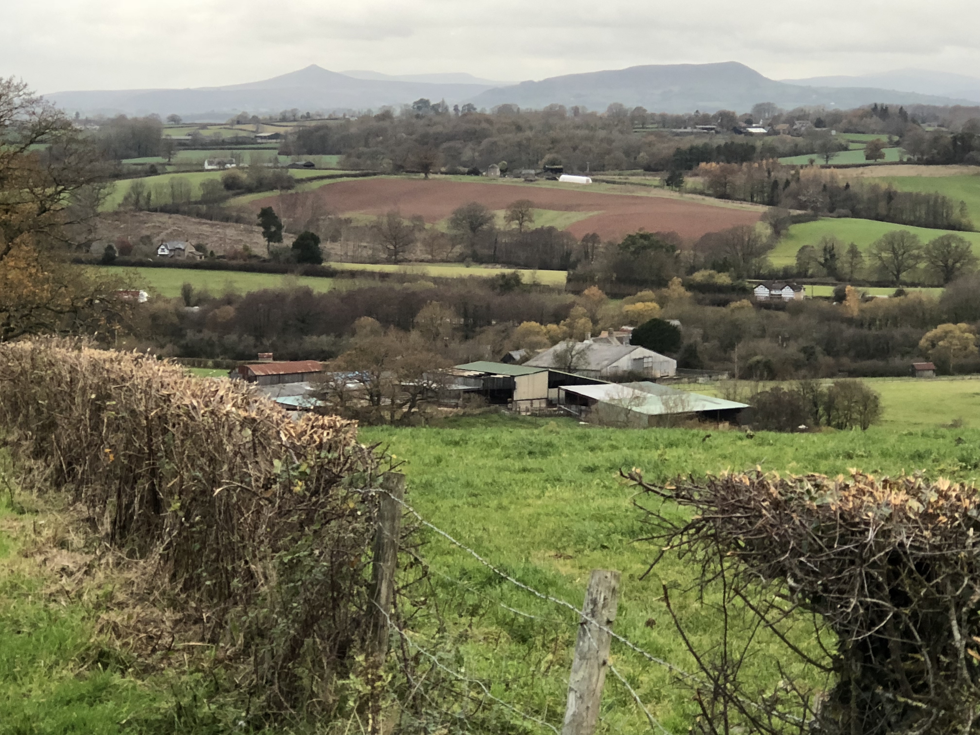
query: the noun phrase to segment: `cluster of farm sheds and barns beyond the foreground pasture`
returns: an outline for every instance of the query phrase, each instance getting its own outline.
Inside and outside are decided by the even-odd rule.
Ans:
[[[571,367],[569,351],[575,355]],[[259,392],[289,412],[318,408],[317,395],[327,379],[333,385],[349,380],[352,391],[363,385],[357,373],[328,373],[320,363],[309,360],[243,365],[229,376],[254,383]],[[626,377],[643,379],[621,382]],[[678,375],[676,361],[652,350],[591,341],[561,343],[523,365],[480,361],[433,370],[422,377],[429,398],[450,409],[479,397],[488,406],[517,414],[564,415],[630,428],[680,418],[741,422],[743,411],[749,408],[746,404],[664,384],[696,379]]]

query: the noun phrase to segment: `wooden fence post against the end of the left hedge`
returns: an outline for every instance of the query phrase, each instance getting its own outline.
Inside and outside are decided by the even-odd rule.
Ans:
[[[398,542],[402,533],[402,504],[405,498],[405,475],[385,472],[378,493],[377,527],[374,531],[374,550],[371,561],[371,627],[368,642],[368,675],[370,716],[368,731],[380,733],[381,667],[388,654],[389,615],[395,599],[395,573],[398,571]]]

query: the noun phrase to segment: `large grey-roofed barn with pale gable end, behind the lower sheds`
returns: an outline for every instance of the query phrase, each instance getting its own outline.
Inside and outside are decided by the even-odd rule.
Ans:
[[[668,377],[676,374],[677,361],[635,345],[565,340],[528,360],[524,367],[552,368],[594,378],[613,377],[624,372]]]

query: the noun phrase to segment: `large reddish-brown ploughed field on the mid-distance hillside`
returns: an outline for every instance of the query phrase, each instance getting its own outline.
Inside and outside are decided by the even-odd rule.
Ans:
[[[737,224],[753,224],[761,215],[761,210],[669,197],[476,181],[367,178],[338,181],[291,196],[317,198],[338,214],[382,215],[394,209],[407,218],[420,215],[429,223],[446,219],[468,202],[503,210],[516,199],[529,199],[542,210],[599,213],[567,227],[576,237],[598,232],[604,238],[615,238],[642,228],[648,232],[673,231],[685,239],[693,239]],[[269,197],[253,202],[252,206],[274,207],[275,202],[276,197]]]

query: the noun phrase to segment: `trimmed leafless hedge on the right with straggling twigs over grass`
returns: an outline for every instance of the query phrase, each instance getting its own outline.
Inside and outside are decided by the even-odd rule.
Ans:
[[[694,585],[724,621],[711,650],[699,650],[664,587],[701,669],[688,681],[700,732],[976,732],[976,488],[857,470],[663,486],[635,469],[629,477],[647,498],[669,501],[647,509],[649,539],[700,571]],[[782,644],[773,665],[783,680],[773,691],[743,674],[753,656],[745,641],[762,632]]]

